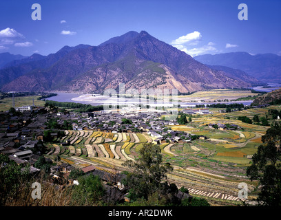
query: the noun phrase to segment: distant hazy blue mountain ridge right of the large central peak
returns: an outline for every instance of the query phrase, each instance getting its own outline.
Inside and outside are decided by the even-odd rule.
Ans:
[[[221,65],[240,69],[263,83],[281,83],[281,56],[276,54],[251,55],[247,52],[205,54],[194,59],[206,65]]]

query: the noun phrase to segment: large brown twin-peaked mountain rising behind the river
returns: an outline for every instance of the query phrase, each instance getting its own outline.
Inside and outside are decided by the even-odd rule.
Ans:
[[[145,31],[128,32],[98,46],[66,46],[40,61],[16,67],[6,69],[19,70],[20,74],[3,85],[3,91],[101,93],[107,88],[118,89],[119,83],[125,83],[126,89],[176,88],[180,92],[250,86],[238,77],[195,61]]]

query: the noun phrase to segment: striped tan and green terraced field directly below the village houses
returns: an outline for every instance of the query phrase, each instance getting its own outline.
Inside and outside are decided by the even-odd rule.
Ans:
[[[107,157],[112,159],[134,159],[144,143],[152,142],[143,133],[105,133],[100,131],[65,131],[65,136],[57,142],[69,140],[70,146],[52,144],[52,155]],[[133,147],[138,145],[138,149]],[[67,148],[67,151],[65,150]],[[63,152],[62,152],[63,151]]]

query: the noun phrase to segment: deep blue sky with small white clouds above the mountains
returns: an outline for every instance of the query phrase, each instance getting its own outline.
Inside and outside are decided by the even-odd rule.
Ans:
[[[145,30],[191,56],[281,56],[280,24],[280,0],[1,0],[0,53],[48,55]]]

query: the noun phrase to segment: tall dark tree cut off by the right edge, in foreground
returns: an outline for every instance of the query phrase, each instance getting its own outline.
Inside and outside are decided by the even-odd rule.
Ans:
[[[258,146],[258,152],[252,157],[253,164],[247,168],[251,181],[258,180],[261,191],[258,204],[262,206],[281,206],[281,125],[275,124],[267,129]]]

